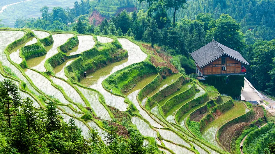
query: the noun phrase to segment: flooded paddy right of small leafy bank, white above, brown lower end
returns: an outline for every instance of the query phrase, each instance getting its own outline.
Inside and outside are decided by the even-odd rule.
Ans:
[[[41,72],[45,72],[46,69],[44,67],[45,61],[47,59],[49,59],[50,57],[52,57],[53,55],[55,55],[56,53],[58,53],[57,47],[61,46],[62,44],[64,44],[69,38],[73,37],[73,34],[55,34],[52,35],[53,39],[54,39],[54,44],[52,45],[52,48],[47,50],[47,54],[45,56],[42,56],[40,58],[33,58],[31,60],[30,63],[32,63],[31,65],[33,67],[33,69],[36,69],[38,71]],[[43,58],[43,59],[42,59]],[[42,59],[42,61],[40,61]]]

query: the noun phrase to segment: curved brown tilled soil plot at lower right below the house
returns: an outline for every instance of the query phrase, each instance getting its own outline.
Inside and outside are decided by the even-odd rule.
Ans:
[[[238,137],[242,133],[242,130],[244,129],[245,126],[249,126],[252,121],[264,117],[264,111],[261,106],[254,106],[253,110],[256,112],[256,115],[252,120],[250,120],[249,122],[236,123],[230,126],[219,137],[221,144],[228,151],[231,151],[231,146],[230,146],[231,140],[234,137]]]

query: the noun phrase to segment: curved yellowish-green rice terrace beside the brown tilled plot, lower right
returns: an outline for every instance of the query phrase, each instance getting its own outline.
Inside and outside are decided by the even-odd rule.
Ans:
[[[221,114],[217,119],[210,122],[202,131],[202,136],[211,144],[220,147],[216,141],[216,133],[223,124],[228,121],[245,114],[246,106],[244,103],[235,102],[234,107]]]

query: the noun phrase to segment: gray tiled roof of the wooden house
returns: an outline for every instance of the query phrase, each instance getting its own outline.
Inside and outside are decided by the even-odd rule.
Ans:
[[[191,53],[191,56],[198,64],[199,67],[207,65],[208,63],[216,60],[217,58],[221,57],[222,55],[228,55],[246,65],[250,65],[242,55],[233,49],[228,48],[216,42],[215,40],[211,41],[210,43],[206,44],[205,46],[201,47],[200,49]]]

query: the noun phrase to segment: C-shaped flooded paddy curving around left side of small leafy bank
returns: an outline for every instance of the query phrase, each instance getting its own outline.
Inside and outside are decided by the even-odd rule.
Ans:
[[[10,51],[10,59],[15,63],[20,64],[22,62],[22,58],[19,56],[19,53],[20,53],[19,49],[24,46],[34,44],[36,42],[37,42],[37,39],[35,37],[33,37],[33,38],[30,38],[28,41],[26,41],[26,43],[21,44],[21,45],[17,46],[16,48],[12,49]]]

